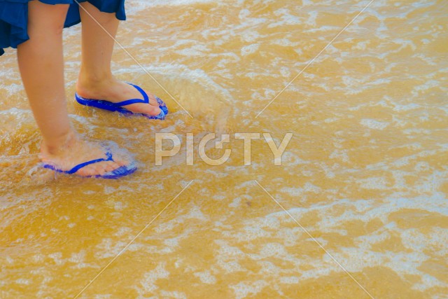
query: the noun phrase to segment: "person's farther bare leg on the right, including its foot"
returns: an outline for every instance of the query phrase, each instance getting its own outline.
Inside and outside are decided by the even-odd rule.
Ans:
[[[122,102],[126,99],[141,99],[140,93],[131,85],[118,81],[111,72],[111,58],[118,29],[114,13],[102,13],[88,2],[80,4],[82,32],[82,60],[76,84],[81,97]],[[101,25],[101,27],[98,25]],[[109,34],[104,32],[106,29]],[[132,104],[126,109],[137,113],[157,116],[160,113],[155,97],[149,94],[150,104]]]

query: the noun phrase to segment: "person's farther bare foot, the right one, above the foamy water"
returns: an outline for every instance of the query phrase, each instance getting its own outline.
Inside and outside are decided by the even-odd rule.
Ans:
[[[78,83],[76,83],[76,93],[86,99],[104,99],[113,103],[123,102],[127,99],[143,99],[134,86],[113,77],[101,81],[92,81],[80,77]],[[126,105],[125,108],[134,113],[158,116],[160,108],[157,100],[150,93],[148,93],[148,97],[149,104],[130,104]]]

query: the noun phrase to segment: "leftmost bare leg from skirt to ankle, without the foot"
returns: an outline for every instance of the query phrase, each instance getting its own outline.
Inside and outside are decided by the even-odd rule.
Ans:
[[[62,29],[68,5],[29,3],[29,41],[18,46],[23,84],[49,149],[65,141],[71,132],[64,89]],[[57,113],[56,113],[57,112]]]

